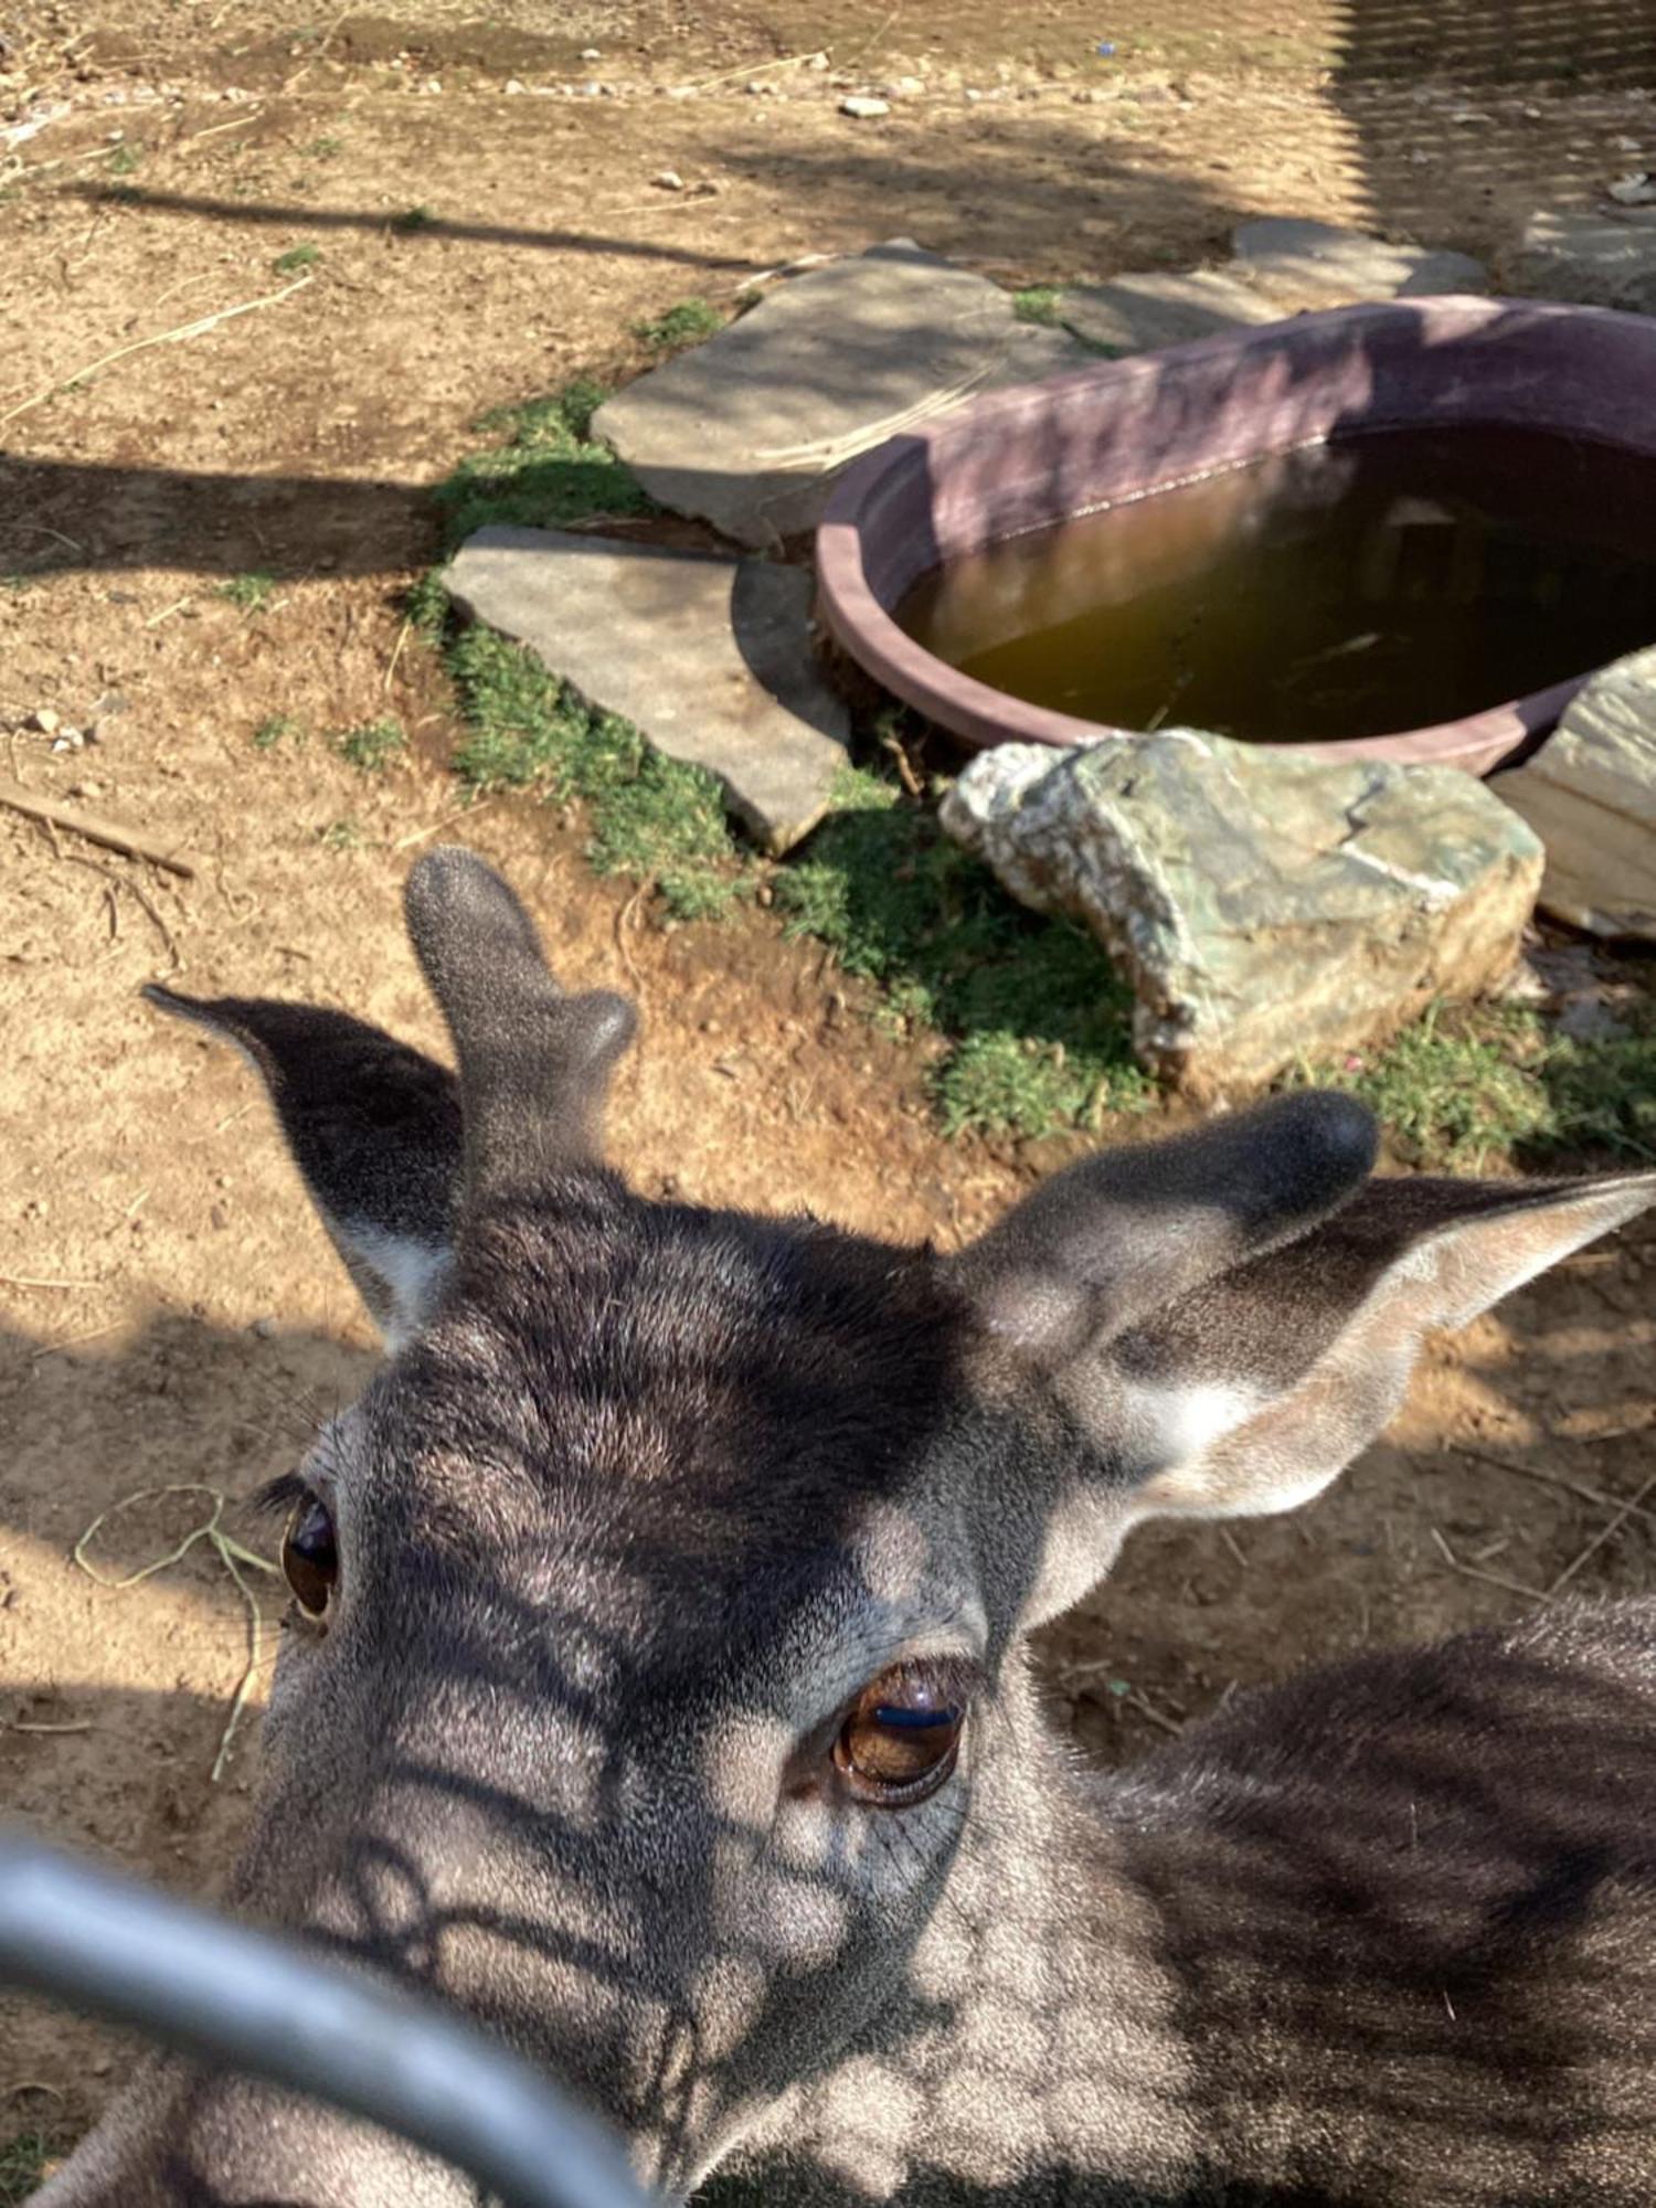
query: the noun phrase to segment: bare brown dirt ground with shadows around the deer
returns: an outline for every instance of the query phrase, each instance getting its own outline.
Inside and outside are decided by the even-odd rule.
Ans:
[[[912,1055],[768,912],[665,934],[552,815],[455,821],[448,698],[397,594],[473,420],[638,316],[894,232],[1018,280],[1195,261],[1250,212],[1495,254],[1535,205],[1656,168],[1656,18],[0,0],[0,130],[66,104],[0,166],[0,768],[201,857],[185,883],[0,813],[0,1813],[203,1892],[256,1755],[250,1722],[212,1777],[243,1594],[208,1543],[126,1590],[71,1550],[172,1486],[194,1493],[97,1537],[106,1577],[177,1546],[203,1490],[245,1532],[234,1499],[373,1351],[252,1078],[150,1016],[141,980],[314,996],[435,1044],[397,885],[457,832],[512,872],[567,978],[643,1000],[612,1122],[640,1186],[956,1243],[1047,1161],[945,1144]],[[852,124],[839,75],[923,91]],[[665,168],[684,192],[651,185]],[[272,263],[298,245],[320,247],[309,280],[234,314],[296,283]],[[163,331],[183,333],[144,342]],[[280,576],[261,616],[216,594],[250,570]],[[97,742],[53,753],[22,726],[38,709]],[[386,711],[417,755],[378,779],[250,742],[274,713]],[[1137,1537],[1051,1636],[1082,1738],[1130,1753],[1232,1680],[1510,1618],[1561,1574],[1647,1585],[1652,1265],[1656,1239],[1627,1236],[1444,1342],[1312,1510]],[[263,1583],[258,1607],[263,1674]],[[0,2142],[73,2135],[121,2064],[106,2034],[0,2003]]]

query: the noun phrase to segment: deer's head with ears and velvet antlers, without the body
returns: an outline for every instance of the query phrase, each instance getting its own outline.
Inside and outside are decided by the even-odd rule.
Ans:
[[[1367,1111],[1301,1093],[1078,1164],[958,1256],[649,1203],[598,1159],[627,1005],[563,996],[466,852],[406,907],[457,1075],[150,991],[254,1062],[391,1345],[280,1497],[232,1897],[459,2003],[682,2195],[870,2034],[947,2031],[916,1956],[974,1848],[1016,1883],[1073,1846],[1031,1627],[1144,1517],[1318,1493],[1429,1329],[1652,1188],[1371,1179]],[[466,2197],[174,2064],[51,2193]]]

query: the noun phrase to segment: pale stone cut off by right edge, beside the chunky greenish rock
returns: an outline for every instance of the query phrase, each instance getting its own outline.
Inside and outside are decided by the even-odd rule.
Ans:
[[[1493,788],[1546,843],[1546,912],[1656,943],[1656,647],[1596,673]]]

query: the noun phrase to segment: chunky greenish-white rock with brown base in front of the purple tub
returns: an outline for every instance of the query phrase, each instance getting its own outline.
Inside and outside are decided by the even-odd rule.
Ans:
[[[1139,1058],[1199,1100],[1495,987],[1541,879],[1539,841],[1473,775],[1192,729],[987,751],[943,826],[1097,936]]]

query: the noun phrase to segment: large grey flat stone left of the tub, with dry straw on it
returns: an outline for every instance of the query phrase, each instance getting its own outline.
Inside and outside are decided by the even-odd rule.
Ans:
[[[618,391],[594,428],[662,506],[773,548],[815,528],[859,453],[1051,353],[1009,291],[894,241],[795,276]]]

